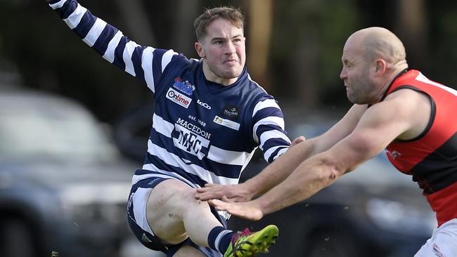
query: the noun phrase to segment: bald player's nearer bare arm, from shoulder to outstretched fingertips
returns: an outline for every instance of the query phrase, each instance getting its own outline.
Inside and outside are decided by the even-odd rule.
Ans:
[[[420,123],[418,119],[428,119],[423,117],[428,115],[427,112],[417,112],[423,110],[423,106],[421,109],[407,96],[406,94],[406,97],[394,97],[390,100],[386,98],[384,102],[368,108],[349,136],[329,150],[302,162],[288,178],[261,197],[243,203],[212,200],[210,204],[235,216],[258,220],[268,213],[307,199],[344,173],[374,157],[395,138],[408,133],[412,128],[415,130]]]

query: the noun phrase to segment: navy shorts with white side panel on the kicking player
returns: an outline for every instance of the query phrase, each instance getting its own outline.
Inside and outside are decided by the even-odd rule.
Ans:
[[[139,239],[141,244],[148,247],[149,249],[154,251],[162,251],[170,257],[173,256],[174,253],[176,253],[176,251],[178,251],[183,245],[189,245],[195,249],[199,249],[202,251],[202,253],[205,253],[205,255],[209,257],[220,257],[221,253],[207,247],[198,246],[189,238],[180,244],[163,244],[160,242],[160,239],[155,237],[153,231],[147,224],[146,212],[142,213],[142,210],[145,209],[143,207],[146,206],[146,200],[149,195],[148,192],[150,192],[150,190],[152,190],[156,185],[167,179],[170,178],[146,178],[144,180],[140,180],[138,183],[131,187],[129,202],[127,204],[127,220],[131,231],[134,232],[135,237]],[[137,208],[135,208],[136,206]],[[214,216],[221,222],[221,224],[227,228],[226,219],[220,216],[214,207],[210,206],[210,209]],[[195,222],[198,222],[198,220],[195,220]]]

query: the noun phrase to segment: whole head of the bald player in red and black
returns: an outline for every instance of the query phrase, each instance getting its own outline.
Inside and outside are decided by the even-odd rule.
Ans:
[[[352,103],[374,104],[382,99],[401,70],[408,68],[400,39],[382,27],[368,27],[352,34],[341,56],[340,78]]]

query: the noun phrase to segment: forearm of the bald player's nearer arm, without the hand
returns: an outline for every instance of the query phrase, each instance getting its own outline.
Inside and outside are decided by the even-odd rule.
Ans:
[[[297,166],[282,183],[256,199],[256,205],[265,215],[311,197],[378,154],[382,148],[375,142],[376,137],[379,138],[376,134],[373,137],[361,133],[352,135],[330,150],[314,155]]]

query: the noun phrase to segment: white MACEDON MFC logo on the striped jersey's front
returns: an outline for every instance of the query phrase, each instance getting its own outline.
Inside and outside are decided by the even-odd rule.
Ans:
[[[174,124],[174,129],[179,133],[178,138],[173,138],[174,146],[195,155],[198,159],[205,157],[202,147],[207,148],[210,145],[211,133],[207,133],[200,127],[179,118]]]

